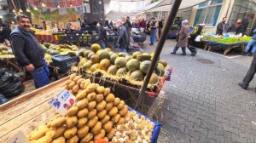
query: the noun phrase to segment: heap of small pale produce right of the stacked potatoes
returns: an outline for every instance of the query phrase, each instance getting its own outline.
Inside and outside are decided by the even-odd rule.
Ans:
[[[154,123],[137,112],[129,112],[125,124],[119,124],[116,129],[112,143],[150,143]]]

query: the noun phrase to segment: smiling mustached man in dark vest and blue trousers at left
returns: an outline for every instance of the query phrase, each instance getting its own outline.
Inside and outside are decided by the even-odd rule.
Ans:
[[[30,32],[30,20],[25,14],[17,15],[18,26],[10,34],[15,59],[34,78],[36,88],[49,84],[49,69],[44,60],[44,49]]]

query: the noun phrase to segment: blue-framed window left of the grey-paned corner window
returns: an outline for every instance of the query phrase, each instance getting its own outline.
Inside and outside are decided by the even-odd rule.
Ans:
[[[210,0],[199,4],[195,14],[194,26],[201,23],[206,26],[216,26],[222,3],[223,0]]]

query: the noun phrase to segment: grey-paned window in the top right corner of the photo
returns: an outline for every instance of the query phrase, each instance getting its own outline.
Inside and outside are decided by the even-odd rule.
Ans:
[[[230,14],[229,25],[236,23],[236,20],[243,20],[248,29],[252,28],[255,16],[256,3],[248,0],[235,0]]]

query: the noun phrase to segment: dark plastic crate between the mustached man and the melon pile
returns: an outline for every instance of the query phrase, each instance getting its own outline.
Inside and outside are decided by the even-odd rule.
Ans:
[[[79,55],[58,54],[51,57],[53,65],[59,68],[59,72],[68,72],[70,67],[79,63]]]

